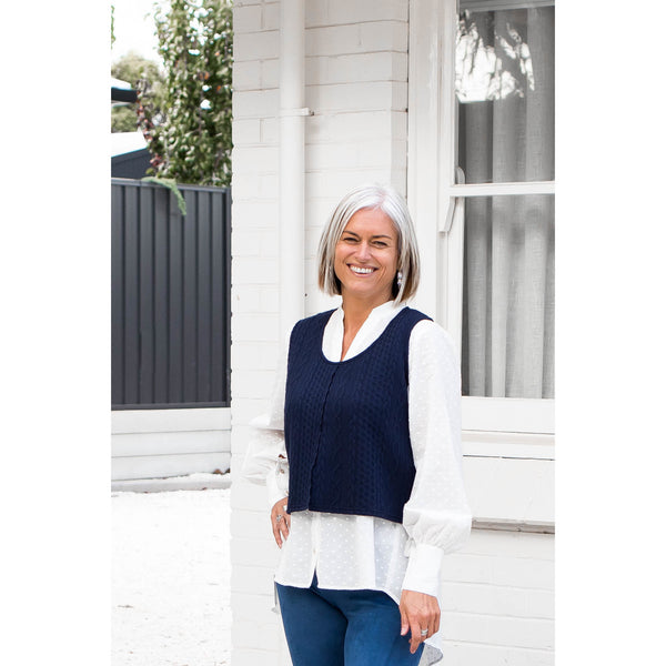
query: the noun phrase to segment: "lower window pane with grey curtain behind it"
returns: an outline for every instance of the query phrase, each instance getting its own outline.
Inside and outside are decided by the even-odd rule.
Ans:
[[[465,200],[463,395],[554,397],[554,201]]]

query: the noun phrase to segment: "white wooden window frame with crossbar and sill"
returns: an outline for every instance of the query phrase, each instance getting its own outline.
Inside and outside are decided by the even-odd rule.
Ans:
[[[555,181],[456,182],[457,4],[457,0],[410,3],[407,201],[423,258],[416,306],[434,313],[451,333],[460,357],[465,201],[554,194]],[[554,400],[463,396],[465,452],[497,455],[511,450],[514,454],[519,451],[518,457],[551,460],[554,412]],[[514,434],[514,444],[508,433]]]

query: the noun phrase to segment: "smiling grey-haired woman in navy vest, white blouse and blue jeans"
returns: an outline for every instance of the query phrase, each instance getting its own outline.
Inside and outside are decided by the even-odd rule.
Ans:
[[[393,189],[342,199],[319,284],[342,304],[292,330],[243,468],[269,486],[292,663],[432,664],[442,555],[471,527],[460,369],[447,333],[405,305],[418,254]]]

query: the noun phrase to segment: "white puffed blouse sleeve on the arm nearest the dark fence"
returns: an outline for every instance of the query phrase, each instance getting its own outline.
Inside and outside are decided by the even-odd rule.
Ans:
[[[268,487],[269,505],[287,495],[289,462],[284,446],[284,390],[286,385],[287,351],[283,346],[269,411],[250,422],[250,442],[241,475],[252,483]]]

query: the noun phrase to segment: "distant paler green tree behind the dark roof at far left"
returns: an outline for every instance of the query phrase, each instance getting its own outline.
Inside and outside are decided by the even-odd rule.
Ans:
[[[111,65],[111,75],[141,90],[143,99],[150,100],[154,108],[154,114],[159,118],[164,77],[157,62],[130,51]],[[134,132],[138,128],[139,104],[125,104],[111,109],[112,132]]]

